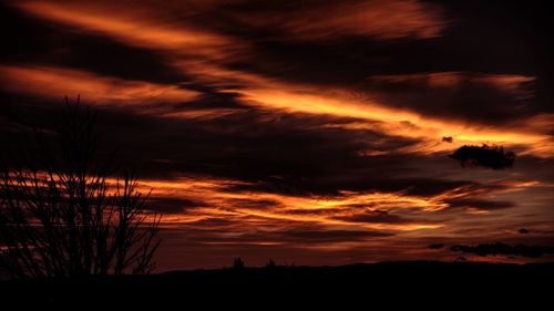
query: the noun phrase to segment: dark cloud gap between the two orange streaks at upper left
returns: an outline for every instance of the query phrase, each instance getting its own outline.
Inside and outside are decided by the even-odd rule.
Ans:
[[[0,2],[2,64],[55,65],[129,80],[188,81],[155,51],[49,23]],[[63,96],[64,94],[62,94]]]

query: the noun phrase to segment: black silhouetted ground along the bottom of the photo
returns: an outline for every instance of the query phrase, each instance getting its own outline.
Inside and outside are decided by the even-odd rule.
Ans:
[[[2,305],[296,310],[299,304],[310,307],[308,310],[331,305],[340,305],[334,308],[338,310],[389,310],[394,305],[552,310],[554,263],[411,261],[0,282],[0,310]],[[376,305],[381,308],[369,308]]]

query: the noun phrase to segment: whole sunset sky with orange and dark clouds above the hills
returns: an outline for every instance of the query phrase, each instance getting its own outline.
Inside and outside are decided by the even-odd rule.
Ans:
[[[80,95],[163,214],[158,271],[552,260],[451,250],[554,246],[545,6],[1,1],[0,139]],[[513,167],[449,157],[483,144]]]

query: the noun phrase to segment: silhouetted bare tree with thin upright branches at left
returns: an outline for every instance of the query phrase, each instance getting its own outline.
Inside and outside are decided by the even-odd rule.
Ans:
[[[148,273],[161,216],[133,174],[100,160],[95,113],[71,104],[52,137],[0,168],[0,265],[13,278]]]

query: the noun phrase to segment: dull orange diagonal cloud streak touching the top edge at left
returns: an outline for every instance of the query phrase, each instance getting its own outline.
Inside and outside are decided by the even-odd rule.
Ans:
[[[124,4],[124,3],[121,3]],[[127,44],[218,59],[236,43],[155,11],[110,2],[22,1],[18,8],[41,18],[103,33]]]

